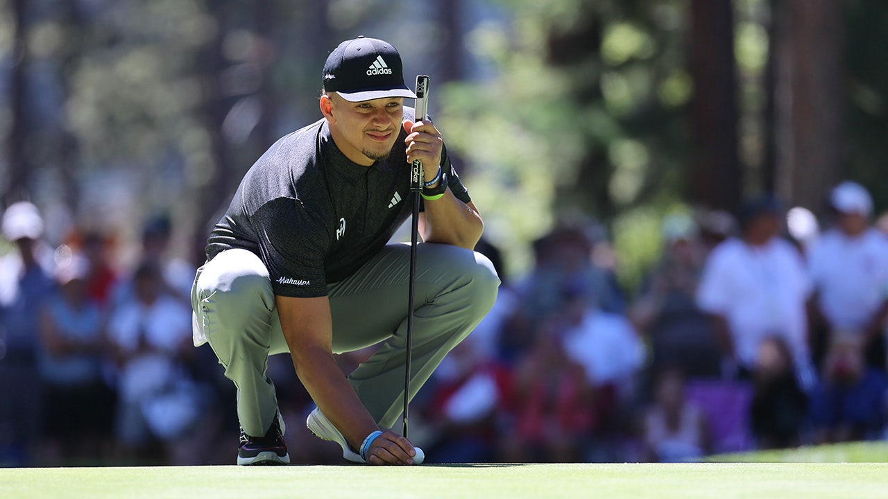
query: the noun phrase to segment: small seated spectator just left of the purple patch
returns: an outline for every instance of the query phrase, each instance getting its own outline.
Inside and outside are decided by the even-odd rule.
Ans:
[[[654,403],[643,420],[643,459],[655,463],[698,461],[709,453],[709,430],[702,410],[686,399],[679,368],[662,367],[654,385]]]

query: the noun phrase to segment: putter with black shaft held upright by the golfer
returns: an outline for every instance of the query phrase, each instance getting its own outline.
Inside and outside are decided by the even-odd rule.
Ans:
[[[414,123],[426,118],[429,98],[429,77],[416,76],[416,116]],[[410,230],[410,283],[407,300],[407,362],[404,365],[404,438],[410,409],[410,358],[413,356],[413,290],[416,287],[416,244],[419,240],[419,196],[423,193],[423,162],[410,165],[410,191],[413,193],[413,219]]]

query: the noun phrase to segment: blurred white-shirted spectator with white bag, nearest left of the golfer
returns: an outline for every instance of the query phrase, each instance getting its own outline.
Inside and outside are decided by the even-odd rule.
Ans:
[[[183,360],[191,352],[191,313],[165,289],[155,262],[139,265],[132,298],[115,306],[108,323],[118,365],[117,440],[125,451],[162,461],[187,448],[176,439],[201,404]]]

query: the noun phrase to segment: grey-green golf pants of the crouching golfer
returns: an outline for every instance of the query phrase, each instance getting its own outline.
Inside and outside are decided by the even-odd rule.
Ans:
[[[333,351],[383,342],[348,376],[383,428],[391,428],[403,408],[409,261],[408,244],[389,244],[357,273],[328,286]],[[480,253],[417,245],[410,398],[488,313],[499,283],[494,266]],[[266,266],[245,249],[219,253],[198,269],[192,305],[194,344],[209,341],[237,387],[244,431],[264,435],[277,410],[274,384],[266,376],[268,356],[289,353]]]

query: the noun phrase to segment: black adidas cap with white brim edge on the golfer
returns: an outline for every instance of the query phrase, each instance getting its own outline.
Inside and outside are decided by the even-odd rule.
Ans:
[[[387,97],[416,99],[404,84],[397,50],[383,40],[358,36],[345,40],[324,63],[325,91],[335,91],[349,102]]]

